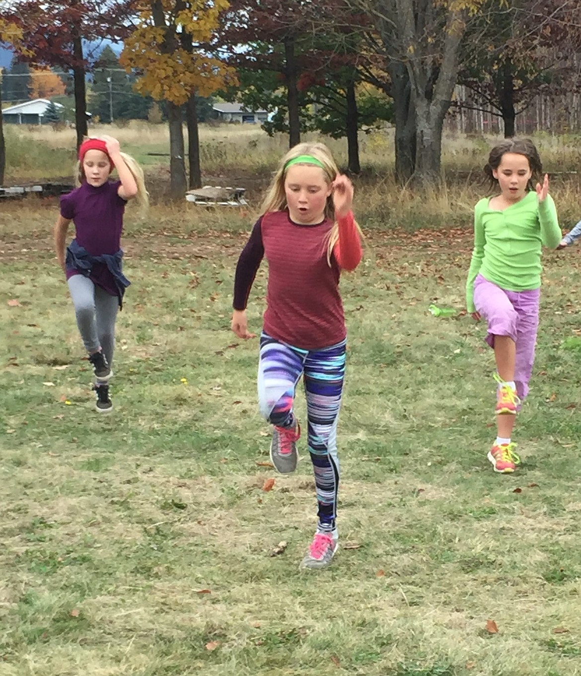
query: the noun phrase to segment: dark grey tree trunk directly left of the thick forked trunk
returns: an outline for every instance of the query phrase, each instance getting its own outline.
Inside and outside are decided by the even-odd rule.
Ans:
[[[415,172],[415,108],[405,64],[392,61],[388,66],[395,115],[395,176],[402,185]]]

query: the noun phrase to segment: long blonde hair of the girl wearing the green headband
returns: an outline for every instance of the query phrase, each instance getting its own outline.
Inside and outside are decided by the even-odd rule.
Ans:
[[[325,180],[330,185],[335,178],[337,177],[339,170],[331,155],[331,151],[324,145],[324,143],[299,143],[291,148],[284,158],[280,160],[280,164],[272,183],[266,193],[266,197],[261,206],[261,214],[266,214],[267,212],[276,212],[286,209],[288,206],[286,203],[286,192],[284,191],[284,179],[286,178],[286,164],[290,160],[295,160],[295,158],[300,157],[301,155],[311,155],[315,160],[323,165],[322,171],[325,174]],[[293,166],[313,166],[309,162],[297,162]],[[315,165],[318,166],[318,165]],[[331,193],[327,197],[324,210],[325,218],[328,218],[333,221],[333,227],[331,228],[330,233],[327,236],[327,262],[331,264],[331,254],[333,253],[333,248],[336,245],[339,239],[339,225],[335,219],[335,208],[333,203],[333,194]],[[361,235],[361,228],[359,224],[355,222],[355,226]]]

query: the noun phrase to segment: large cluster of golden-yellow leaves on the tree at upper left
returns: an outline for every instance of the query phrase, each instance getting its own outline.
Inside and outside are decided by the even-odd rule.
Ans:
[[[139,93],[182,105],[192,93],[209,96],[236,82],[233,68],[197,47],[209,43],[226,0],[150,0],[141,4],[140,24],[125,41],[124,68],[142,73]]]

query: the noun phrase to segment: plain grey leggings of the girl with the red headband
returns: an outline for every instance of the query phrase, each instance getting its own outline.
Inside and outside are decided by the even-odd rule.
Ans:
[[[119,310],[117,296],[112,296],[83,274],[68,280],[76,323],[87,352],[103,350],[109,366],[113,363],[115,320]]]

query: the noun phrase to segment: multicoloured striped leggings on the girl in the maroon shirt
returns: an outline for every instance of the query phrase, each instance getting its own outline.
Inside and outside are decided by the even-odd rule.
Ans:
[[[300,349],[266,333],[260,337],[258,400],[261,414],[278,427],[294,427],[295,389],[303,376],[307,397],[307,443],[319,505],[318,531],[335,528],[339,460],[337,422],[345,379],[346,341],[323,349]]]

